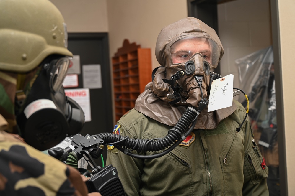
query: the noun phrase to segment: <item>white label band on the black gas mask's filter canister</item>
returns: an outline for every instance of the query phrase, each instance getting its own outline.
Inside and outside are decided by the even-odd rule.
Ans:
[[[33,113],[43,108],[54,108],[56,109],[53,101],[49,99],[38,99],[30,103],[24,110],[25,116],[29,118]]]

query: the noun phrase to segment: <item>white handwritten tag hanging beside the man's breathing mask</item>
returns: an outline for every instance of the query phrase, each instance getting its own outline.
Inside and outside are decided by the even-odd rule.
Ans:
[[[213,80],[210,89],[208,112],[232,106],[234,75]]]

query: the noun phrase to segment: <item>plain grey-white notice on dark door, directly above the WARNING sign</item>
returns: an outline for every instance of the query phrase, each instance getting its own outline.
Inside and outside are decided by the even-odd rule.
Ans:
[[[102,88],[100,65],[83,65],[83,87]]]

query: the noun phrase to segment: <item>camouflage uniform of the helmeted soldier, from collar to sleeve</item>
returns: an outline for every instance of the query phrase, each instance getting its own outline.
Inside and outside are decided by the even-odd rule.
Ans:
[[[87,195],[77,170],[29,146],[17,134],[17,75],[0,72],[0,81],[0,195]]]

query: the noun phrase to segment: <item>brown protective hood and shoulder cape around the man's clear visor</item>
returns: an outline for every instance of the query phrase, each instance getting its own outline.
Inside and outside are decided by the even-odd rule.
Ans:
[[[167,98],[170,85],[163,82],[162,79],[171,79],[171,76],[177,71],[184,70],[184,63],[179,65],[172,63],[169,47],[176,40],[190,36],[205,37],[216,42],[219,47],[220,61],[224,49],[216,32],[205,23],[196,18],[187,17],[164,27],[158,36],[155,50],[157,60],[162,67],[158,68],[153,82],[146,85],[146,90],[138,96],[135,104],[137,111],[170,126],[174,126],[177,123],[188,106],[198,107],[198,103],[201,100],[201,91],[194,79],[195,75],[203,75],[202,92],[204,98],[207,97],[210,76],[204,74],[205,70],[203,68],[196,66],[195,74],[182,77],[176,82],[182,89],[180,91],[181,101],[176,104],[170,104],[169,101],[171,100]],[[195,57],[195,59],[199,58]],[[210,65],[210,72],[214,68],[216,66]],[[207,112],[207,108],[205,108],[198,117],[195,129],[214,129],[222,119],[233,113],[235,109],[234,103],[232,107],[213,112]]]

